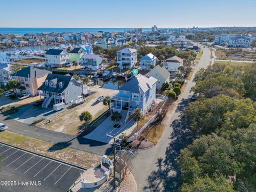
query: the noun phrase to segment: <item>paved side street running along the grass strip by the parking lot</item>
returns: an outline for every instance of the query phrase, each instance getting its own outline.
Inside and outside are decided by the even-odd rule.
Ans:
[[[53,145],[65,145],[73,149],[86,151],[88,153],[100,156],[108,154],[108,151],[111,150],[110,145],[107,143],[85,139],[82,137],[75,137],[73,135],[27,125],[3,116],[3,114],[0,114],[0,122],[5,123],[9,127],[8,130],[11,132],[34,137],[43,141],[52,142]]]

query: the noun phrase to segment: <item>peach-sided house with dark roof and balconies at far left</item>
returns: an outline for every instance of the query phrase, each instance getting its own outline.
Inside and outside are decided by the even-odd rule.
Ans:
[[[12,80],[20,83],[20,87],[16,89],[17,94],[30,94],[34,96],[39,92],[38,87],[43,84],[47,75],[51,73],[51,71],[44,69],[26,67],[11,74],[11,77]]]

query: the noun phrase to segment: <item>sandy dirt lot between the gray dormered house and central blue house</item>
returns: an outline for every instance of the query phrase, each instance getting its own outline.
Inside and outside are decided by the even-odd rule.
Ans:
[[[84,122],[79,120],[79,115],[81,115],[83,111],[89,111],[92,114],[93,119],[97,118],[108,109],[108,106],[104,106],[102,102],[95,102],[96,99],[101,95],[105,97],[107,95],[110,96],[114,93],[118,93],[117,90],[95,87],[90,87],[90,91],[94,93],[87,97],[86,101],[82,105],[73,108],[66,108],[60,113],[51,116],[49,119],[38,123],[36,126],[57,132],[76,135],[79,130],[79,126],[84,124]],[[49,120],[50,123],[48,123]]]

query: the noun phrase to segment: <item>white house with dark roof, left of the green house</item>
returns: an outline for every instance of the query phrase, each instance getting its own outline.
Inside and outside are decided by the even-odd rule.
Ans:
[[[62,49],[49,49],[44,55],[45,67],[65,67],[69,63],[69,53]]]

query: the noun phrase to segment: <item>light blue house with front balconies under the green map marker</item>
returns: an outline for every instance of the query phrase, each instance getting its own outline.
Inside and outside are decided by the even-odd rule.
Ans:
[[[120,87],[119,93],[111,95],[111,113],[119,111],[125,115],[125,121],[140,108],[143,114],[153,105],[156,98],[156,83],[154,77],[145,77],[141,74],[133,77]]]

